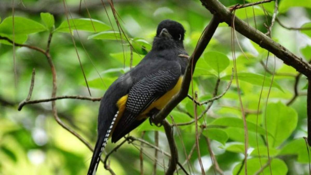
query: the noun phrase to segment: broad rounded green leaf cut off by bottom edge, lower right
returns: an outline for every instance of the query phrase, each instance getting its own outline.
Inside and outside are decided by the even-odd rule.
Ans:
[[[255,174],[261,169],[261,165],[264,166],[268,161],[268,158],[252,158],[247,160],[247,174]],[[260,164],[261,163],[261,164]],[[286,175],[288,168],[285,162],[281,159],[274,158],[271,160],[271,174]],[[233,169],[233,174],[237,174],[241,168],[241,163],[237,164]],[[245,166],[242,167],[239,175],[245,174]],[[263,169],[262,174],[270,174],[270,167],[266,166]]]

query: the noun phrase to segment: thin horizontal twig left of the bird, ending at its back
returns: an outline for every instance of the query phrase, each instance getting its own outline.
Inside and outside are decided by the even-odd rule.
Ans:
[[[80,99],[80,100],[100,101],[101,98],[102,97],[85,97],[85,96],[80,96],[80,95],[64,95],[64,96],[58,96],[58,97],[53,97],[53,98],[49,98],[49,99],[28,100],[28,101],[22,101],[18,105],[18,110],[20,111],[26,104],[50,102],[50,101],[55,101],[55,100],[59,100],[59,99]]]

